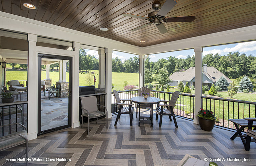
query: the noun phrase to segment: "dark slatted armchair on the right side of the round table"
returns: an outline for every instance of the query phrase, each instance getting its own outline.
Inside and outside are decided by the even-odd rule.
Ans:
[[[179,97],[179,94],[180,94],[179,91],[173,92],[172,98],[171,98],[170,101],[162,100],[160,102],[164,102],[165,104],[158,104],[157,105],[157,108],[155,110],[156,110],[156,120],[158,118],[158,115],[160,115],[159,127],[162,126],[163,115],[168,115],[170,121],[172,120],[172,118],[171,118],[171,116],[172,116],[175,127],[178,127],[178,124],[176,122],[176,118],[175,118],[175,115],[174,115],[174,112],[173,112],[173,108],[176,106],[175,103],[176,103],[176,101]],[[167,102],[169,102],[169,104],[167,104]],[[166,108],[164,108],[164,107],[166,107]]]

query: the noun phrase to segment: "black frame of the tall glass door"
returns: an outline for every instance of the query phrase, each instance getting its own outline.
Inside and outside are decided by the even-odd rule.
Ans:
[[[69,60],[69,86],[68,86],[68,124],[47,129],[41,131],[41,72],[42,72],[42,58],[47,59],[59,59],[59,60]],[[51,54],[38,54],[38,134],[42,135],[52,131],[64,129],[67,127],[71,127],[71,120],[72,120],[72,61],[73,57],[70,56],[61,56],[61,55],[51,55]]]

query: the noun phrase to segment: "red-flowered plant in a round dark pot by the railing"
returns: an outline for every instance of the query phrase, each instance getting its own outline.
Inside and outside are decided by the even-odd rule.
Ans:
[[[201,129],[205,131],[212,131],[216,120],[213,112],[201,108],[197,116]]]

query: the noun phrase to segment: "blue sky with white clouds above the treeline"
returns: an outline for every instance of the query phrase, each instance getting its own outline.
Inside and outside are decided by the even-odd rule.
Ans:
[[[99,58],[98,51],[88,50],[88,49],[85,49],[85,51],[87,54],[94,55],[96,58]],[[204,47],[203,56],[209,53],[213,53],[213,55],[218,53],[222,56],[222,55],[226,55],[228,52],[236,52],[236,51],[239,51],[240,53],[245,53],[247,56],[250,54],[253,56],[256,56],[256,41]],[[150,61],[156,62],[158,59],[161,59],[161,58],[166,59],[169,56],[174,56],[179,59],[180,58],[185,59],[187,58],[188,55],[190,56],[195,55],[194,49],[150,54],[148,55],[148,57],[150,58]],[[122,60],[122,62],[124,62],[126,59],[129,59],[130,57],[133,57],[133,56],[138,56],[138,55],[114,51],[114,50],[112,54],[112,58],[118,57]]]

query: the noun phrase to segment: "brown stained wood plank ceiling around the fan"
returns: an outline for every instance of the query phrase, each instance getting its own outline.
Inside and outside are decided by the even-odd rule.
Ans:
[[[166,17],[194,15],[193,22],[164,23],[165,34],[153,24],[131,32],[148,22],[122,14],[147,17],[154,1],[1,0],[0,11],[141,47],[256,25],[256,0],[177,0]],[[163,5],[165,0],[160,2]],[[23,3],[37,9],[27,9]],[[101,31],[102,27],[109,31]]]

